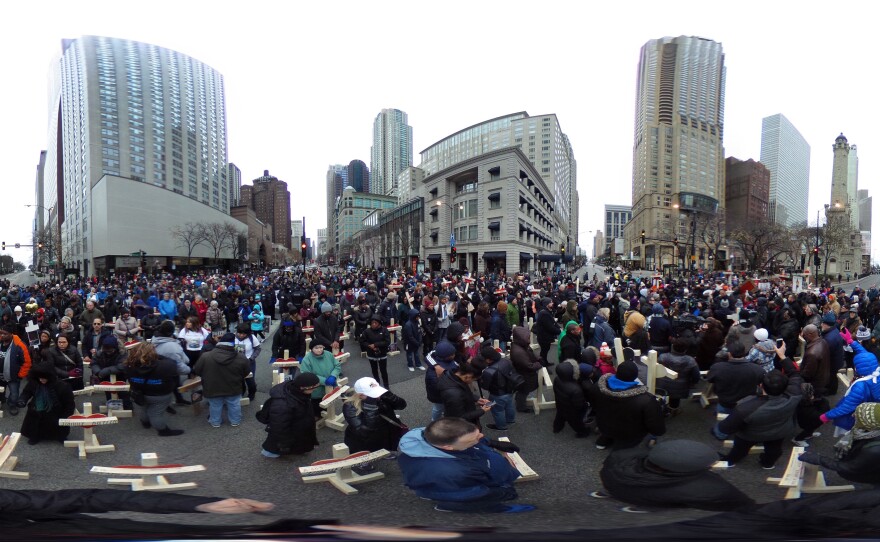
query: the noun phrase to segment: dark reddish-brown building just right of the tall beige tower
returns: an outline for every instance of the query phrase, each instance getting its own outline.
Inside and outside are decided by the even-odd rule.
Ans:
[[[751,158],[729,156],[725,164],[727,231],[765,222],[770,216],[770,170]]]

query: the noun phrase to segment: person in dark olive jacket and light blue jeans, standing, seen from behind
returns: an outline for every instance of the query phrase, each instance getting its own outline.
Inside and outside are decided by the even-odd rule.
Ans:
[[[235,349],[235,335],[226,333],[210,352],[199,356],[193,372],[202,377],[202,393],[208,401],[208,423],[223,423],[223,407],[232,427],[241,424],[241,388],[251,364]]]

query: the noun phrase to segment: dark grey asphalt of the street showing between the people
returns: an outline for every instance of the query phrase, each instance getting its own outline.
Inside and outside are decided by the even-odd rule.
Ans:
[[[277,323],[273,325],[273,331]],[[357,346],[349,341],[346,350],[352,352],[351,360],[344,366],[345,375],[351,382],[369,376],[369,364],[361,358]],[[658,510],[651,514],[628,514],[620,511],[621,504],[613,500],[596,500],[588,495],[599,489],[598,472],[607,451],[595,449],[595,437],[575,439],[570,429],[554,435],[551,431],[553,411],[540,415],[520,414],[516,425],[509,431],[511,441],[521,448],[521,455],[540,475],[540,479],[518,485],[520,502],[538,506],[527,514],[477,515],[436,512],[432,503],[419,499],[403,486],[400,471],[394,461],[381,461],[384,480],[359,486],[360,493],[344,496],[329,484],[303,484],[296,470],[312,461],[332,456],[331,446],[342,442],[342,433],[321,429],[321,442],[314,452],[301,457],[277,460],[264,459],[260,444],[264,438],[264,426],[254,419],[254,412],[267,398],[270,375],[268,358],[270,349],[264,348],[257,369],[259,392],[255,404],[244,407],[244,421],[238,428],[224,425],[214,429],[206,421],[206,408],[200,415],[194,407],[178,407],[178,414],[170,417],[173,428],[185,429],[179,437],[160,438],[155,431],[143,429],[136,419],[123,419],[115,426],[99,427],[97,434],[102,443],[115,444],[117,451],[90,455],[79,460],[76,451],[63,448],[57,443],[41,443],[29,446],[22,442],[16,450],[19,470],[31,473],[29,480],[0,478],[0,487],[9,489],[62,489],[109,487],[106,476],[90,474],[94,465],[113,466],[137,464],[142,452],[156,452],[160,462],[202,464],[206,472],[178,475],[173,481],[195,481],[199,484],[195,494],[211,496],[249,497],[276,504],[276,509],[260,516],[211,516],[185,514],[174,516],[147,516],[131,513],[115,514],[119,517],[135,517],[158,521],[211,524],[258,524],[282,518],[335,518],[347,523],[422,525],[436,528],[496,527],[515,532],[566,530],[575,528],[610,528],[636,525],[652,525],[693,519],[708,515],[696,510]],[[555,356],[555,353],[552,354]],[[551,357],[552,359],[552,357]],[[401,416],[410,427],[419,427],[430,420],[430,404],[425,398],[423,371],[409,372],[403,354],[390,358],[389,373],[391,389],[407,400],[408,407]],[[77,403],[81,405],[83,399]],[[103,397],[92,397],[93,403],[103,403]],[[834,403],[834,401],[832,401]],[[8,414],[0,419],[0,432],[17,431],[23,413],[17,417]],[[682,413],[668,421],[668,433],[664,438],[692,438],[719,447],[709,436],[714,414],[703,410],[698,403],[683,404]],[[831,451],[830,428],[816,438],[814,446],[826,453]],[[73,429],[73,438],[81,435]],[[497,432],[488,431],[490,438]],[[786,445],[784,458],[790,446]],[[769,475],[779,476],[784,469],[784,459],[775,471],[764,471],[754,456],[722,475],[735,483],[759,502],[780,499],[784,491],[765,483]],[[829,484],[840,480],[833,473],[828,475]]]

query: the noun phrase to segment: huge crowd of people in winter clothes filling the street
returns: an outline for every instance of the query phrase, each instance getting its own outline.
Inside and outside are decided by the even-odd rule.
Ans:
[[[511,502],[518,473],[499,451],[517,446],[484,431],[503,436],[518,413],[530,412],[545,368],[553,377],[553,432],[596,432],[595,447],[608,450],[598,498],[707,509],[752,502],[709,471],[719,459],[711,448],[660,440],[682,400],[706,384],[726,415],[711,433],[733,440],[721,457],[731,466],[762,444],[760,465],[772,469],[787,442],[809,447],[831,423],[842,436],[835,450],[810,449],[801,459],[855,482],[877,479],[876,288],[794,293],[787,283],[736,275],[383,270],[117,276],[0,288],[0,385],[10,415],[27,408],[22,433],[31,444],[63,440],[57,420],[73,412],[73,391],[110,375],[129,382],[124,406],[136,405],[143,426],[160,436],[183,432],[168,426],[166,414],[198,399],[177,392],[192,376],[202,378],[208,423],[220,428],[225,414],[236,427],[240,398],[253,400],[257,391],[262,343],[271,340],[270,361],[295,358],[300,366],[264,390],[262,454],[308,453],[317,446],[321,399],[342,376],[335,353],[350,328],[348,340],[365,353],[372,378],[355,382],[345,400],[345,443],[353,452],[394,451],[407,486],[439,510],[533,508]],[[267,337],[275,319],[278,329]],[[389,333],[392,324],[398,333]],[[627,347],[622,359],[611,348],[616,338]],[[407,401],[390,391],[395,350],[405,353],[408,370],[425,373],[432,420],[425,428],[409,429],[397,414]],[[649,350],[676,374],[654,391],[647,367],[632,355]],[[852,384],[837,401],[837,375],[847,368]]]

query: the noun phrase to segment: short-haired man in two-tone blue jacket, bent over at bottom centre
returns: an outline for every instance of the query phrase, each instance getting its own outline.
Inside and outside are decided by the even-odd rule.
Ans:
[[[461,418],[441,418],[409,431],[397,456],[404,484],[440,512],[517,513],[528,504],[505,504],[518,497],[520,473],[496,450],[517,452],[509,442],[489,441]]]

